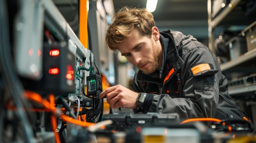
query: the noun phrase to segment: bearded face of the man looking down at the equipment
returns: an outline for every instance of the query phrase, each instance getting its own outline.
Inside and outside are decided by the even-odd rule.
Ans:
[[[158,29],[157,29],[157,33]],[[128,62],[139,68],[143,73],[150,74],[161,68],[162,47],[159,37],[141,36],[135,28],[131,35],[121,42],[117,49]]]

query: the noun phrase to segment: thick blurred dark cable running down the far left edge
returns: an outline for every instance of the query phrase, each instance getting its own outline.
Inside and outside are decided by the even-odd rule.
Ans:
[[[17,107],[16,115],[20,119],[21,127],[24,130],[25,143],[31,143],[34,141],[34,133],[29,124],[28,117],[26,116],[24,107],[26,102],[22,95],[24,89],[22,89],[22,84],[18,78],[16,70],[13,68],[13,59],[11,58],[11,46],[9,43],[9,24],[8,24],[8,12],[7,4],[5,0],[0,0],[0,66],[2,77],[6,83],[7,88],[11,92],[13,101]],[[2,126],[1,126],[2,128]]]

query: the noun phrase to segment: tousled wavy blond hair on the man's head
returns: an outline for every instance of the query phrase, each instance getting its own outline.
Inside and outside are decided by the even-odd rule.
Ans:
[[[155,26],[152,13],[146,9],[125,6],[115,14],[114,19],[106,34],[107,47],[112,51],[117,50],[119,43],[129,37],[133,29],[137,28],[142,36],[150,37],[151,29]]]

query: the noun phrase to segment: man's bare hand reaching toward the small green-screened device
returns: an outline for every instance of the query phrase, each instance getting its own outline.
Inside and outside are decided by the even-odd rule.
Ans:
[[[134,92],[124,86],[116,85],[111,86],[101,92],[100,97],[106,97],[107,102],[110,104],[110,108],[116,109],[119,107],[136,109],[136,100],[139,93]]]

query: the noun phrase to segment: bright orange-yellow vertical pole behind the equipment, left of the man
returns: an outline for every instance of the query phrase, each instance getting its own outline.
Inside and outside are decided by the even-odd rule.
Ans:
[[[79,2],[79,40],[85,48],[88,48],[88,11],[89,0]]]

